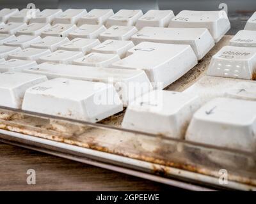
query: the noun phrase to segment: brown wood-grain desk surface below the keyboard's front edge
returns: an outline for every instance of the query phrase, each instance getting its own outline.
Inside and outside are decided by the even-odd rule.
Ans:
[[[28,185],[28,169],[36,185]],[[170,191],[171,186],[0,143],[0,191]],[[176,188],[175,188],[176,189]]]

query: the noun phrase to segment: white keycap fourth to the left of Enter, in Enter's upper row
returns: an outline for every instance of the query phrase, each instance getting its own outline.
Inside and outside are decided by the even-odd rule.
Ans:
[[[40,36],[22,35],[22,36],[18,36],[16,39],[6,41],[4,45],[21,47],[22,49],[24,49],[24,48],[28,48],[31,43],[36,43],[40,40],[42,40]]]

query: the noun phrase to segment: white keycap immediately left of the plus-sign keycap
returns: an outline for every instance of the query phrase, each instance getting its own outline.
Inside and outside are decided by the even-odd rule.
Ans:
[[[76,30],[72,31],[68,37],[71,39],[74,38],[98,38],[100,33],[106,31],[106,27],[104,25],[89,25],[84,24],[81,25]]]

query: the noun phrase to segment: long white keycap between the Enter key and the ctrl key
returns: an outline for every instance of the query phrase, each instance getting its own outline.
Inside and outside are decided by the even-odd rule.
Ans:
[[[111,69],[44,62],[35,68],[24,69],[26,73],[45,75],[47,78],[71,78],[113,84],[124,105],[152,90],[147,75],[136,69]]]

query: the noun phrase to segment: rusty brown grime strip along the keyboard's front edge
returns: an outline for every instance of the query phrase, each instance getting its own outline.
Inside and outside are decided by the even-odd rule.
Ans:
[[[201,173],[204,175],[212,175],[212,176],[216,176],[214,175],[214,172],[212,172],[211,170],[205,169],[205,168],[201,168],[200,166],[197,166],[196,164],[188,164],[186,162],[177,162],[177,161],[170,161],[170,160],[166,160],[163,158],[158,158],[155,156],[150,156],[147,154],[141,154],[141,152],[127,152],[127,151],[122,151],[120,149],[112,149],[112,148],[108,148],[108,147],[104,147],[102,145],[102,143],[97,143],[95,140],[91,141],[87,141],[87,142],[78,142],[78,141],[74,141],[72,139],[74,138],[65,138],[63,137],[63,134],[61,136],[58,135],[50,135],[49,133],[43,133],[42,131],[38,132],[38,131],[33,131],[29,128],[26,128],[24,126],[20,126],[20,125],[15,125],[13,126],[13,124],[8,125],[8,124],[3,124],[0,123],[0,129],[5,129],[8,131],[13,131],[13,132],[18,132],[18,133],[22,133],[25,135],[33,135],[33,136],[38,136],[40,138],[46,138],[46,139],[50,139],[50,140],[54,140],[56,142],[65,142],[65,143],[69,143],[72,145],[77,145],[79,147],[84,147],[84,148],[88,148],[88,149],[93,149],[93,150],[99,150],[101,152],[108,152],[111,154],[116,154],[119,156],[124,156],[124,157],[130,157],[132,159],[138,159],[141,161],[147,161],[149,163],[152,163],[152,171],[153,173],[156,173],[158,175],[168,175],[170,174],[170,167],[173,168],[178,168],[180,170],[188,170],[188,171],[193,171],[195,173]],[[162,147],[161,149],[157,149],[153,152],[154,154],[158,155],[158,156],[166,156],[166,154],[171,154],[170,151],[168,151],[168,149]],[[157,166],[157,164],[161,165],[161,166]],[[244,179],[244,180],[243,180]],[[236,178],[235,180],[241,180],[241,182],[243,182],[244,184],[249,184],[249,185],[255,185],[255,183],[253,182],[253,180],[251,181],[250,179],[245,179],[245,178]]]

